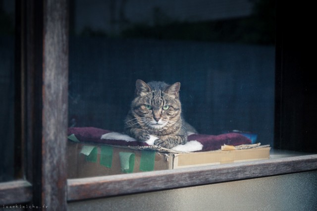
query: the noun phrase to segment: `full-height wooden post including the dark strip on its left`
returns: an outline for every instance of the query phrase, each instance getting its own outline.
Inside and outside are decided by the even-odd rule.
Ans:
[[[30,206],[67,210],[67,0],[20,0],[22,139]],[[23,35],[23,36],[22,36]],[[32,208],[31,207],[31,208]]]

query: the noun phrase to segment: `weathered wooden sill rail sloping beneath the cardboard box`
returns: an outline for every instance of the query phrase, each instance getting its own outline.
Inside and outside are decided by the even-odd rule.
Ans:
[[[317,169],[317,155],[68,179],[67,200],[158,191]]]

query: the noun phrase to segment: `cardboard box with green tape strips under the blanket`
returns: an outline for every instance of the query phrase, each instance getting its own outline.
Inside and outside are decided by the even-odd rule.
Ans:
[[[68,142],[68,178],[186,168],[269,159],[269,147],[172,153]]]

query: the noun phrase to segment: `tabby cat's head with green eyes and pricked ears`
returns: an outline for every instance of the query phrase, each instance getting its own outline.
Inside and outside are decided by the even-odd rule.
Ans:
[[[178,97],[180,83],[167,85],[163,82],[136,83],[136,98],[132,112],[139,125],[145,129],[161,129],[173,125],[180,118],[181,104]]]

